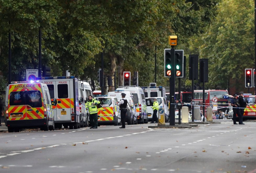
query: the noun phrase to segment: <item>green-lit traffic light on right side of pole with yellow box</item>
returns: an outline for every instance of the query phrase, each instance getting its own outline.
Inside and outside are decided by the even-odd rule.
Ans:
[[[176,77],[184,77],[183,76],[183,67],[184,67],[184,51],[183,50],[175,50],[175,70]]]

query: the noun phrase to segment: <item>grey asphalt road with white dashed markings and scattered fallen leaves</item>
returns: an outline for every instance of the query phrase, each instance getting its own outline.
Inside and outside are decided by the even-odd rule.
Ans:
[[[256,172],[256,122],[0,133],[0,172]],[[155,124],[156,125],[156,124]]]

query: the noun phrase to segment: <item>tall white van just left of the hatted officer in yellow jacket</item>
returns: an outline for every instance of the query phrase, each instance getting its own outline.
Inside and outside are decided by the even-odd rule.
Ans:
[[[136,86],[121,86],[116,90],[129,91],[133,95],[134,103],[137,112],[138,123],[148,123],[148,112],[144,92],[141,87]]]

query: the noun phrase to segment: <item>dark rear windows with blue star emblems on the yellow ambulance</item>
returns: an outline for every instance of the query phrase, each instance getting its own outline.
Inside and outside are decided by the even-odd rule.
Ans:
[[[10,106],[29,105],[32,108],[42,107],[40,91],[16,91],[10,93]]]

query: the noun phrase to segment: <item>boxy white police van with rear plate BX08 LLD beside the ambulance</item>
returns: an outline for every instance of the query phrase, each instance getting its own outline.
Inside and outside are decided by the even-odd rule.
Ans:
[[[51,99],[57,99],[57,105],[53,106],[55,128],[77,129],[80,128],[79,103],[83,103],[79,97],[79,85],[75,76],[37,77],[49,88]]]

